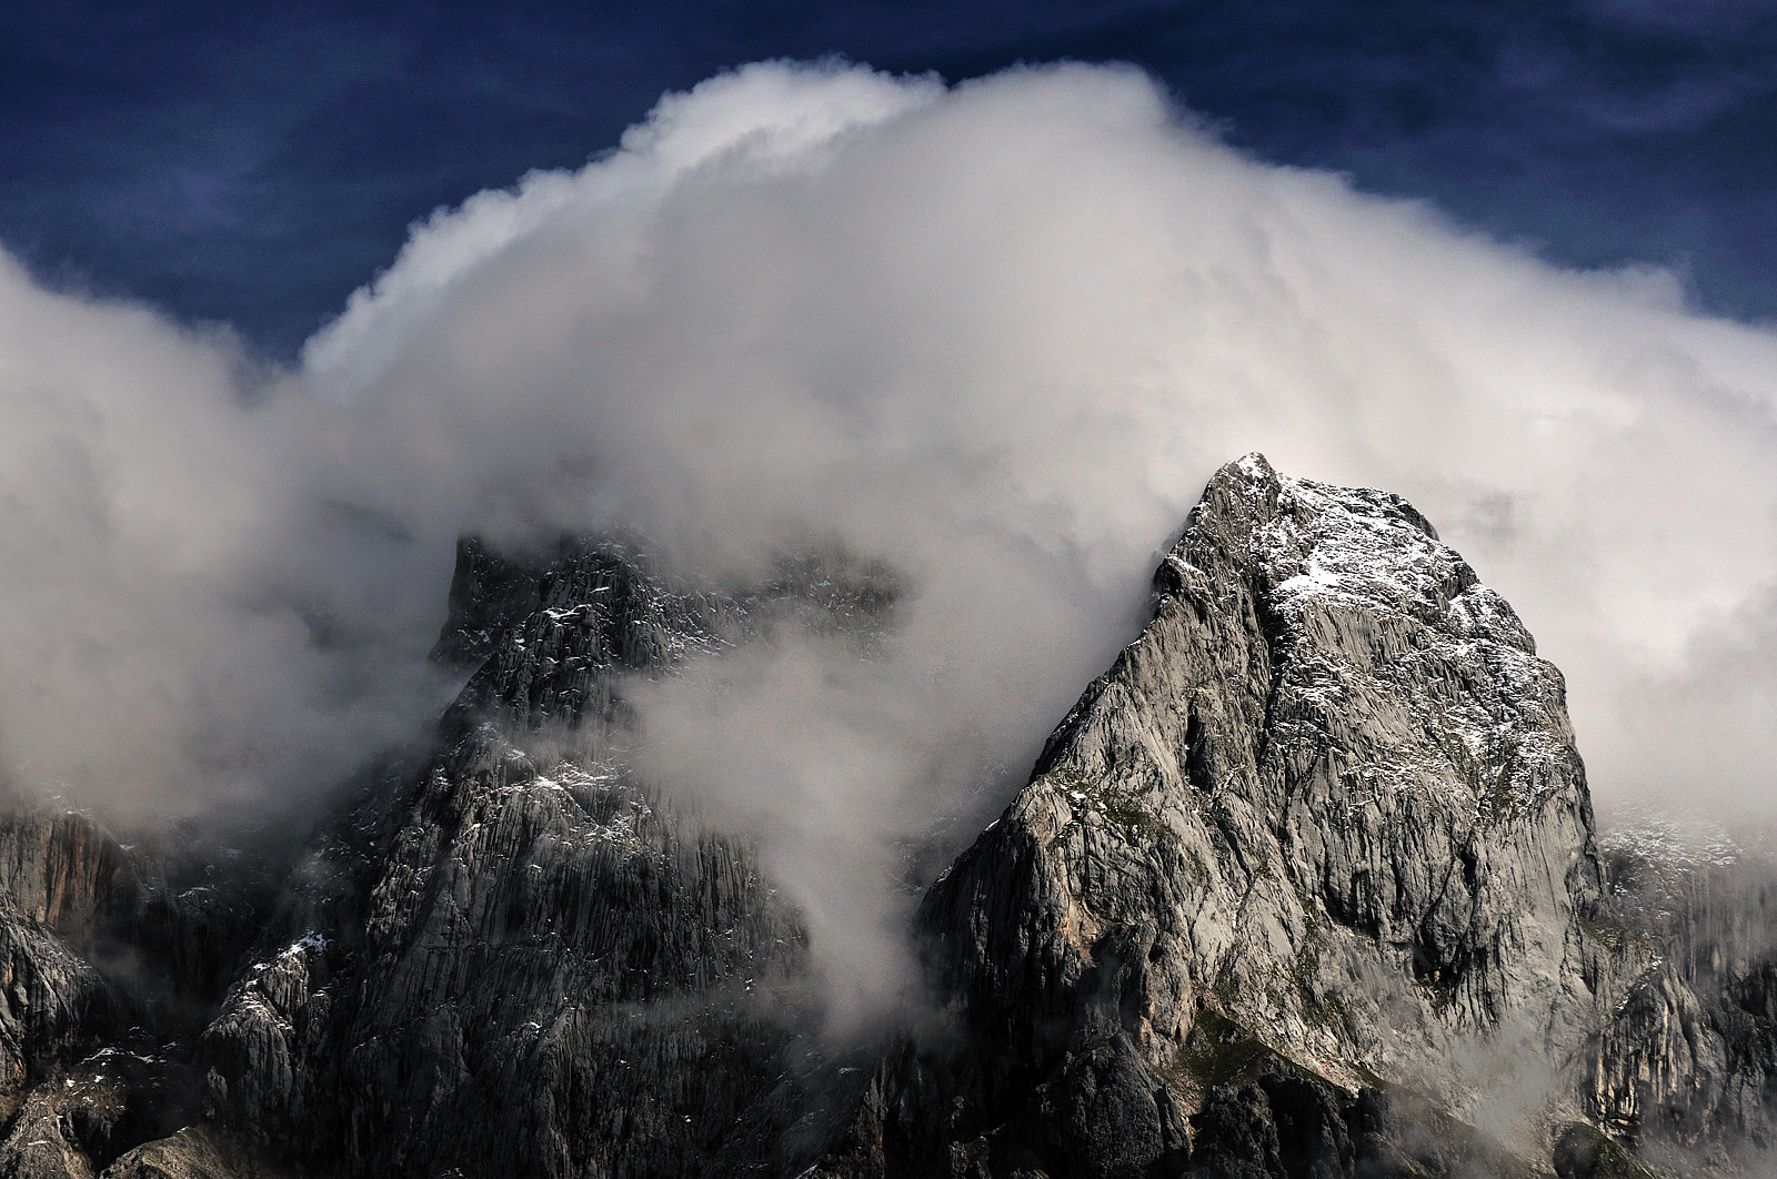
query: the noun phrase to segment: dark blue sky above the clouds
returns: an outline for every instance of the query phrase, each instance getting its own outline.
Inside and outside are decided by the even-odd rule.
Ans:
[[[578,165],[668,89],[841,53],[1130,60],[1233,144],[1777,318],[1777,5],[57,4],[0,9],[0,241],[288,357],[439,204]]]

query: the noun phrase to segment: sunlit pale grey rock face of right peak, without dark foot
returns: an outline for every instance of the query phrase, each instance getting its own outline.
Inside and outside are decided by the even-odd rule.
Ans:
[[[1558,1041],[1599,868],[1560,673],[1510,605],[1398,497],[1256,456],[1155,586],[926,904],[960,991],[1155,1065],[1212,1007],[1342,1081],[1523,1012]]]

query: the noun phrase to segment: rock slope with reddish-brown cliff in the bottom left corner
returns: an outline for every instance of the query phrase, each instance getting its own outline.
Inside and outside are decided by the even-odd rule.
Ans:
[[[192,833],[0,822],[0,1175],[91,1175],[195,1115],[192,1035],[265,918],[265,874]]]

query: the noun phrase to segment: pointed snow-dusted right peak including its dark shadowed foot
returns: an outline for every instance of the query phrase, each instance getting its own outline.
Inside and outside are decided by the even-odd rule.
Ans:
[[[926,898],[974,1049],[885,1072],[860,1138],[888,1172],[1345,1175],[1383,1149],[1352,1131],[1398,1113],[1384,1081],[1448,1120],[1583,1051],[1590,803],[1560,673],[1512,609],[1400,497],[1256,455],[1217,472],[1155,590]],[[920,1087],[961,1115],[936,1129]],[[1335,1099],[1365,1090],[1368,1115]],[[1526,1112],[1523,1149],[1555,1112]],[[1274,1167],[1214,1161],[1256,1167],[1255,1126],[1283,1135]]]

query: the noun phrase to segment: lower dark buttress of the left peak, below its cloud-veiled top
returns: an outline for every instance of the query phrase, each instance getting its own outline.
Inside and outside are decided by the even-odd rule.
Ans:
[[[801,948],[745,849],[487,733],[402,810],[359,920],[300,930],[206,1030],[224,1122],[350,1174],[707,1167],[780,1069],[753,989]]]

